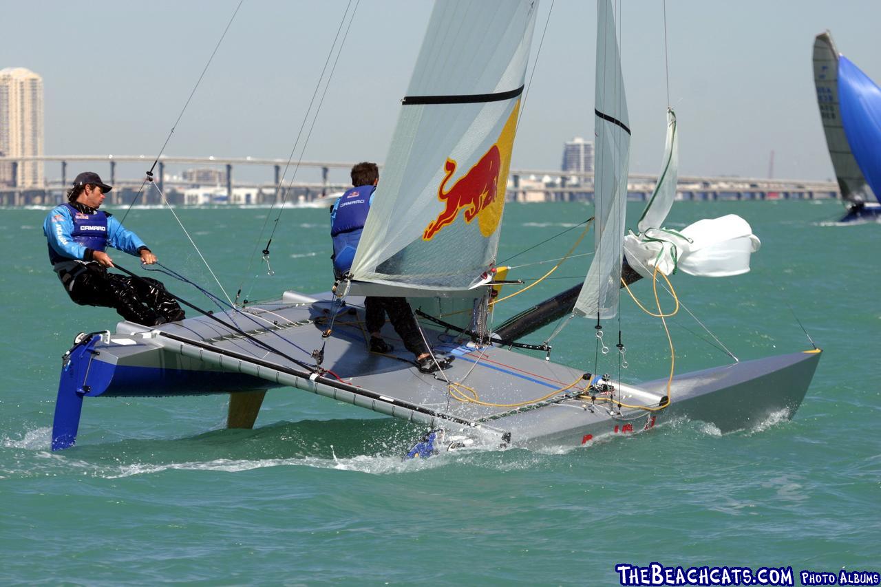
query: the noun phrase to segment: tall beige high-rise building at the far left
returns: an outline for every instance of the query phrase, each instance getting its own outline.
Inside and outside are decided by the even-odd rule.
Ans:
[[[0,154],[43,154],[43,78],[23,67],[0,70]],[[0,164],[0,185],[42,187],[42,161],[24,161],[15,174],[11,163]]]

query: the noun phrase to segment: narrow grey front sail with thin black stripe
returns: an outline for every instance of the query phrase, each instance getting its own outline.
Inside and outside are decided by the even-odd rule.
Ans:
[[[630,128],[609,0],[599,0],[596,11],[596,254],[575,301],[574,313],[611,318],[618,309],[621,281]]]

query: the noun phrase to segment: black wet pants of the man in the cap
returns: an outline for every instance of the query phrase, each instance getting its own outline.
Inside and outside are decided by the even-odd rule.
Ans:
[[[110,273],[97,263],[63,271],[58,277],[70,299],[80,306],[115,308],[129,322],[155,326],[184,318],[181,306],[156,279]]]

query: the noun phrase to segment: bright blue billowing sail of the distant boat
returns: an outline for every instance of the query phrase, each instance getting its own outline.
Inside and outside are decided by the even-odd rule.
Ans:
[[[838,96],[850,150],[875,197],[881,197],[881,88],[847,57],[840,56]]]

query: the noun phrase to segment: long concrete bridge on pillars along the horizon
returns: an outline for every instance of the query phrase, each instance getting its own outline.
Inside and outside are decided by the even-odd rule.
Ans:
[[[9,185],[0,185],[0,205],[18,206],[27,204],[56,204],[63,201],[64,190],[70,188],[73,181],[71,175],[85,168],[99,173],[102,178],[115,186],[109,197],[109,204],[129,203],[139,189],[144,188],[144,203],[158,203],[159,197],[144,186],[145,175],[137,176],[127,171],[128,176],[121,177],[117,166],[124,165],[128,169],[143,166],[144,172],[152,167],[154,158],[145,155],[46,155],[41,157],[0,157],[0,168],[7,166]],[[44,175],[53,175],[47,167],[55,167],[57,175],[48,179],[42,186],[19,185],[18,169],[25,161],[37,161],[44,164]],[[69,172],[68,164],[75,167]],[[167,157],[159,158],[153,177],[157,187],[167,193],[173,204],[188,204],[183,194],[186,189],[195,188],[196,182],[184,181],[180,176],[167,174],[167,166],[210,168],[217,170],[222,177],[215,190],[225,192],[222,201],[242,204],[270,204],[276,197],[279,182],[285,193],[285,201],[311,201],[316,197],[328,195],[349,187],[349,182],[337,180],[331,182],[330,173],[348,175],[353,162],[332,161],[292,161],[283,159],[257,159],[253,157],[222,158],[222,157]],[[57,167],[56,167],[57,166]],[[105,167],[106,166],[106,167]],[[234,179],[233,169],[236,167],[263,167],[266,170],[265,181],[240,181]],[[103,168],[102,168],[103,167]],[[298,167],[297,175],[311,175],[311,182],[289,182],[294,167]],[[46,173],[48,172],[48,173]],[[134,175],[134,176],[133,176]],[[253,172],[251,172],[253,175]],[[655,175],[631,174],[628,181],[628,197],[635,200],[646,199],[655,189]],[[245,201],[240,192],[247,192]],[[594,191],[594,175],[572,174],[569,172],[546,169],[512,169],[508,179],[507,198],[521,202],[537,201],[576,201],[592,200]],[[840,198],[840,190],[835,182],[813,182],[786,179],[759,179],[745,177],[703,177],[680,176],[678,184],[679,197],[695,200],[715,199],[819,199]],[[190,198],[192,203],[192,198]]]

